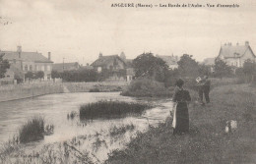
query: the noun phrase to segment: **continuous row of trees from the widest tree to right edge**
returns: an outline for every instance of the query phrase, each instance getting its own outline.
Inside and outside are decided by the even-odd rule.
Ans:
[[[170,70],[166,63],[153,53],[143,53],[133,60],[135,78],[149,78],[173,85],[178,78],[194,81],[199,76],[214,78],[240,78],[244,82],[255,81],[256,64],[246,60],[241,68],[230,67],[221,59],[216,59],[213,66],[200,64],[192,55],[183,54],[177,62],[178,67]]]

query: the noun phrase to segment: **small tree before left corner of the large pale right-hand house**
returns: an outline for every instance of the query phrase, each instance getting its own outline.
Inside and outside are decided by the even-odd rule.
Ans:
[[[231,68],[221,59],[215,60],[215,76],[219,78],[229,77],[232,73]]]

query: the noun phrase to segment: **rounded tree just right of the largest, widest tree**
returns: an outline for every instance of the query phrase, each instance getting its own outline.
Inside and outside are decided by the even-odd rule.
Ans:
[[[195,78],[199,76],[199,64],[192,57],[192,55],[184,54],[177,62],[182,77]]]

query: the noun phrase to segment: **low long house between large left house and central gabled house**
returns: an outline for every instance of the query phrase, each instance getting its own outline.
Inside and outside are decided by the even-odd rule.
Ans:
[[[74,63],[54,63],[52,65],[52,70],[57,72],[79,70],[81,66],[78,62]]]

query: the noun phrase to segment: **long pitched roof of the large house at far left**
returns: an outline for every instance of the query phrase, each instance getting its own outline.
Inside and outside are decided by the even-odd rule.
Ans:
[[[19,58],[19,53],[16,51],[1,51],[1,54],[5,54],[3,58],[7,60],[16,59],[35,63],[53,63],[38,52],[21,52],[21,58]]]

